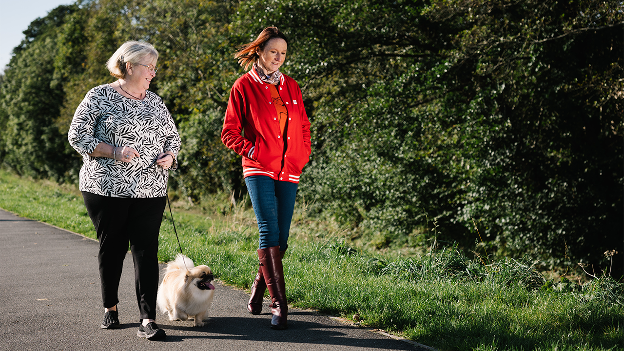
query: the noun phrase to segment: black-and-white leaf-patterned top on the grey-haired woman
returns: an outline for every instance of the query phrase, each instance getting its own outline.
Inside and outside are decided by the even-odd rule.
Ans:
[[[180,135],[162,99],[147,91],[142,101],[128,99],[109,84],[87,92],[76,109],[68,139],[84,164],[80,190],[110,197],[167,195],[168,172],[155,166],[161,152],[180,151]],[[95,146],[129,146],[139,152],[130,162],[91,157]],[[173,162],[172,169],[177,166]]]

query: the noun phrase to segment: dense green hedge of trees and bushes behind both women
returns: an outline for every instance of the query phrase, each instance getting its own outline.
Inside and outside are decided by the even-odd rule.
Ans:
[[[624,251],[621,1],[99,0],[32,22],[2,77],[0,155],[76,182],[66,142],[85,92],[112,81],[122,42],[160,51],[150,89],[183,137],[175,186],[244,194],[218,136],[232,57],[265,26],[291,39],[313,156],[300,196],[318,212],[409,242],[449,241],[553,264]],[[427,218],[429,222],[427,222]]]

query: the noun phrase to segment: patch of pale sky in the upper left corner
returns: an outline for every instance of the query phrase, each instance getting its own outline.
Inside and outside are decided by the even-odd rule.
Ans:
[[[0,72],[11,61],[13,48],[24,39],[23,31],[37,17],[59,5],[73,4],[75,0],[0,0]]]

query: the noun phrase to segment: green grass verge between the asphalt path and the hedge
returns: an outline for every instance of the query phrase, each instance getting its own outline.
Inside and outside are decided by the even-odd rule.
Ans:
[[[76,187],[3,171],[0,180],[3,209],[94,237]],[[258,229],[245,203],[230,206],[223,197],[198,210],[177,201],[173,215],[185,254],[248,289]],[[178,251],[167,210],[158,257],[167,262]],[[526,260],[469,259],[454,247],[421,252],[401,258],[353,247],[343,228],[311,219],[298,205],[285,258],[289,302],[357,315],[363,325],[440,350],[624,349],[624,289],[609,277],[584,285],[546,281]]]

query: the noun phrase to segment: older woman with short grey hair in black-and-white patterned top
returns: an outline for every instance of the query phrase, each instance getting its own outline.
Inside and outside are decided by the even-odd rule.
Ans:
[[[140,326],[137,335],[166,337],[158,328],[158,234],[167,202],[168,169],[180,150],[171,114],[147,89],[158,52],[128,41],[107,61],[117,81],[94,87],[80,103],[69,143],[82,155],[80,191],[100,242],[97,256],[104,305],[102,329],[119,326],[117,290],[130,244]]]

